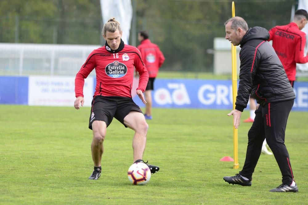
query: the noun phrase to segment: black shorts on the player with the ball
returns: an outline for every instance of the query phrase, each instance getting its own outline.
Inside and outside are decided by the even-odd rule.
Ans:
[[[124,124],[124,117],[132,110],[142,113],[140,107],[130,97],[95,96],[92,100],[89,128],[92,129],[95,120],[104,121],[108,127],[113,117],[127,127]]]

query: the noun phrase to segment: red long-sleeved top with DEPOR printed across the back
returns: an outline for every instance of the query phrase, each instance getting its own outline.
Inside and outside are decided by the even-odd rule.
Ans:
[[[295,81],[296,63],[308,62],[304,57],[306,34],[299,30],[296,23],[285,26],[275,26],[270,31],[270,40],[273,40],[275,49],[290,81]]]

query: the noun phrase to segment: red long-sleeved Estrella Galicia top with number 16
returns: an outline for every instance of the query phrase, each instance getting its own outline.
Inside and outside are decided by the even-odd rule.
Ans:
[[[76,97],[83,97],[84,79],[95,68],[96,87],[94,96],[132,98],[134,66],[140,74],[137,90],[144,92],[149,76],[141,59],[140,51],[136,47],[125,44],[124,48],[118,53],[108,52],[106,46],[93,50],[76,75]]]

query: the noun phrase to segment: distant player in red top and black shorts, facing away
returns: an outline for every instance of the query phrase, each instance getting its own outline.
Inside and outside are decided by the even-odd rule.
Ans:
[[[152,43],[150,39],[148,39],[147,31],[140,31],[138,33],[138,40],[140,41],[140,45],[137,48],[141,52],[142,60],[144,61],[148,72],[149,72],[149,81],[148,85],[145,89],[145,99],[147,104],[145,105],[145,119],[152,119],[152,95],[151,90],[154,89],[154,80],[157,76],[158,70],[163,65],[165,61],[165,57],[163,53],[160,51],[158,45]]]

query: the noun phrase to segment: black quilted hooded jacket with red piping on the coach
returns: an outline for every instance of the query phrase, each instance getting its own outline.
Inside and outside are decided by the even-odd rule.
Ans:
[[[240,81],[235,109],[247,107],[249,94],[265,105],[295,99],[286,72],[269,44],[269,32],[262,27],[250,28],[240,42]]]

